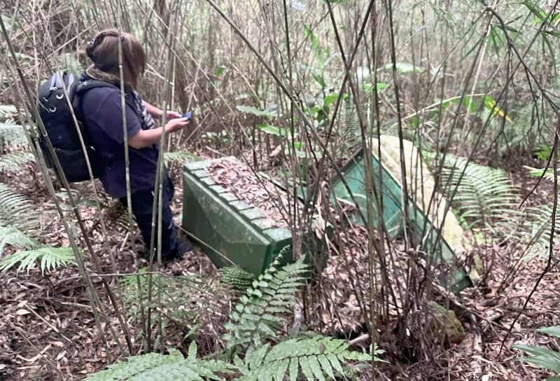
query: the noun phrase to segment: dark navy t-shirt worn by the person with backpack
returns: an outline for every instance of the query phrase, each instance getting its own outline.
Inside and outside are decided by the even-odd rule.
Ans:
[[[141,97],[137,93],[127,93],[126,98],[126,130],[130,138],[141,129],[153,126],[144,121]],[[109,195],[121,198],[127,192],[120,90],[116,87],[92,88],[82,95],[80,106],[92,145],[104,162],[99,179]],[[153,190],[158,167],[158,145],[141,149],[128,148],[132,193]]]

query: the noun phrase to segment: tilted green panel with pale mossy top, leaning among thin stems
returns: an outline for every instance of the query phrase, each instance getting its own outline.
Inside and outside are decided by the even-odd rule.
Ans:
[[[374,205],[374,226],[380,227],[384,221],[388,235],[391,238],[402,235],[403,226],[403,199],[401,185],[400,146],[397,137],[381,136],[381,151],[378,149],[377,139],[372,146],[372,169],[374,172],[374,188],[380,192],[382,213]],[[468,242],[464,232],[458,224],[451,209],[444,214],[447,202],[442,195],[434,193],[435,183],[420,153],[412,142],[403,141],[405,164],[407,171],[407,186],[409,200],[406,205],[411,219],[413,236],[416,238],[416,247],[427,253],[435,255],[430,261],[438,265],[447,263],[451,268],[450,279],[440,279],[444,286],[449,286],[454,292],[461,291],[472,285],[469,275],[461,267],[455,265],[455,258],[460,257],[468,250]],[[382,165],[380,164],[383,163]],[[338,202],[349,202],[357,205],[365,216],[367,213],[367,199],[365,197],[365,162],[363,152],[356,154],[342,169],[344,180],[351,192],[346,189],[342,179],[335,179],[332,184],[332,198]],[[433,201],[430,199],[433,196]],[[355,200],[355,203],[354,203]],[[426,216],[426,212],[428,216]],[[351,215],[356,223],[365,224],[359,214]],[[382,216],[382,219],[381,219]],[[445,218],[444,218],[445,217]],[[438,237],[438,231],[441,236]],[[473,275],[476,277],[476,274]]]

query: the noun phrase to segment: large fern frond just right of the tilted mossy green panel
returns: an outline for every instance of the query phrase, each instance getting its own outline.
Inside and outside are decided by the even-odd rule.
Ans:
[[[447,197],[458,186],[451,202],[470,226],[493,231],[494,224],[510,219],[511,211],[517,208],[517,191],[505,171],[472,162],[467,165],[467,159],[459,156],[447,155],[442,186],[446,186]]]

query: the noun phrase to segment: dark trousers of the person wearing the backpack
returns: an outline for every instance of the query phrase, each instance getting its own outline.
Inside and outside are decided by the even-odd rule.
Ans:
[[[174,186],[169,176],[165,174],[163,178],[163,194],[162,194],[162,258],[175,256],[178,251],[179,242],[177,240],[177,228],[173,222],[173,214],[169,203],[173,199]],[[138,227],[142,233],[144,244],[146,245],[146,253],[150,250],[150,242],[152,238],[152,208],[153,208],[153,191],[140,191],[131,195],[132,213],[136,217]],[[120,198],[120,202],[127,206],[127,198]],[[158,249],[158,206],[156,203],[155,217],[155,240],[154,247]]]

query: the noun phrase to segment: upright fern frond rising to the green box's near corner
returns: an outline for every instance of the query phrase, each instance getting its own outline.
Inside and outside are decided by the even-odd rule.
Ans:
[[[235,305],[230,322],[224,325],[228,332],[222,336],[228,349],[260,347],[267,338],[276,335],[274,328],[285,321],[285,314],[289,312],[286,306],[304,286],[309,265],[300,258],[279,268],[280,261],[281,255]]]

